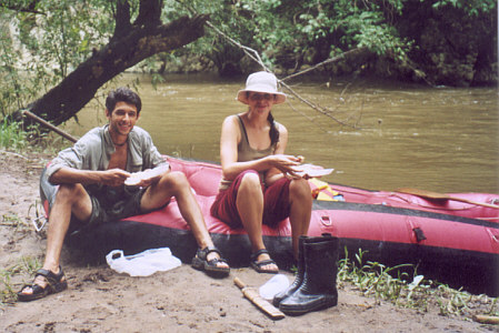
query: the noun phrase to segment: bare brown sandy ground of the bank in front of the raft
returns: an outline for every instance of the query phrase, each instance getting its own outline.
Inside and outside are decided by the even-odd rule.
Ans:
[[[47,159],[0,151],[0,268],[23,258],[42,261],[46,241],[30,226],[39,200],[38,178]],[[19,224],[8,216],[19,216]],[[2,332],[499,332],[467,317],[420,313],[363,297],[348,285],[336,307],[272,321],[243,299],[238,276],[250,286],[270,275],[232,270],[216,280],[188,264],[147,278],[118,274],[106,264],[89,265],[64,250],[62,266],[69,289],[31,303],[0,304]],[[292,281],[291,273],[283,272]],[[14,291],[31,282],[27,273],[10,281]],[[6,286],[0,284],[0,291]]]

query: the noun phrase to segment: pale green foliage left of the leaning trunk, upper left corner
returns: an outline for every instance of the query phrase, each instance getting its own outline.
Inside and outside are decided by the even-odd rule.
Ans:
[[[3,117],[46,93],[89,58],[93,48],[106,44],[113,28],[112,4],[106,0],[0,4]]]

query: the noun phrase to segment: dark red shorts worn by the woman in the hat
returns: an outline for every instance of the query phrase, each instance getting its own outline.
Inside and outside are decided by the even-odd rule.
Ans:
[[[230,228],[242,228],[242,221],[236,205],[239,185],[242,176],[247,173],[257,173],[253,170],[241,172],[227,190],[218,193],[217,199],[211,205],[211,215],[227,223]],[[282,178],[270,186],[261,185],[263,193],[263,224],[271,228],[289,216],[289,183],[290,180]],[[248,198],[248,200],[250,200]]]

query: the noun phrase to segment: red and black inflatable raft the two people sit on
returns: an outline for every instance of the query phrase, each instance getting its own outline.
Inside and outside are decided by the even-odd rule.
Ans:
[[[196,192],[208,230],[232,266],[249,264],[250,243],[244,230],[233,230],[209,213],[218,192],[220,165],[167,158],[172,170],[182,171]],[[499,295],[498,194],[455,193],[450,198],[425,199],[401,192],[368,191],[345,185],[311,182],[315,194],[309,235],[331,233],[349,254],[365,251],[365,260],[385,265],[411,263],[418,274],[475,293]],[[48,211],[56,188],[41,182]],[[339,199],[340,201],[332,201]],[[472,204],[468,202],[477,202]],[[487,206],[488,205],[488,206]],[[277,263],[292,264],[289,221],[277,229],[263,226],[263,241]],[[132,216],[96,230],[68,236],[68,243],[103,258],[111,250],[136,253],[168,246],[190,263],[197,244],[178,206]]]

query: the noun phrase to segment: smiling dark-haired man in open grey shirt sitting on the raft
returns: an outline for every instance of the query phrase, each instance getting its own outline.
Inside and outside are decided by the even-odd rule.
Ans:
[[[186,175],[170,171],[149,133],[134,127],[141,107],[139,95],[128,88],[111,91],[106,100],[109,123],[89,131],[48,167],[46,175],[59,189],[49,216],[46,258],[33,283],[18,293],[19,301],[38,300],[67,287],[59,261],[69,229],[150,212],[166,206],[172,196],[199,245],[192,265],[229,274],[229,265],[213,246]],[[166,172],[142,179],[134,186],[124,185],[132,172],[154,168]]]

